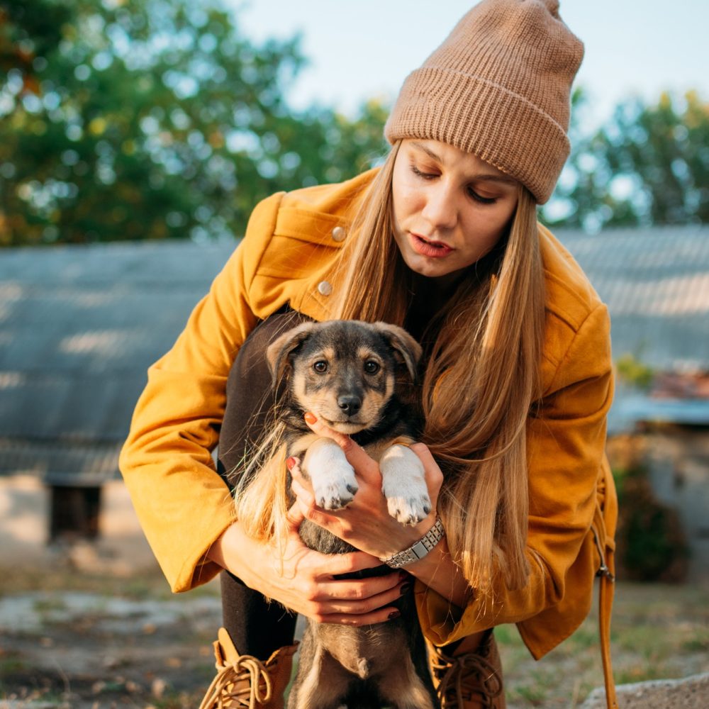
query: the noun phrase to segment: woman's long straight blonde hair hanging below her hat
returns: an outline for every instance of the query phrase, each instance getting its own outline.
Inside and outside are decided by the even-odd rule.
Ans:
[[[393,240],[397,143],[369,188],[340,259],[335,317],[403,325],[413,273]],[[439,513],[455,561],[476,591],[502,574],[525,584],[527,417],[540,397],[544,276],[534,199],[520,186],[501,257],[475,269],[439,313],[425,364],[423,442],[441,464]],[[339,279],[338,279],[339,280]]]

